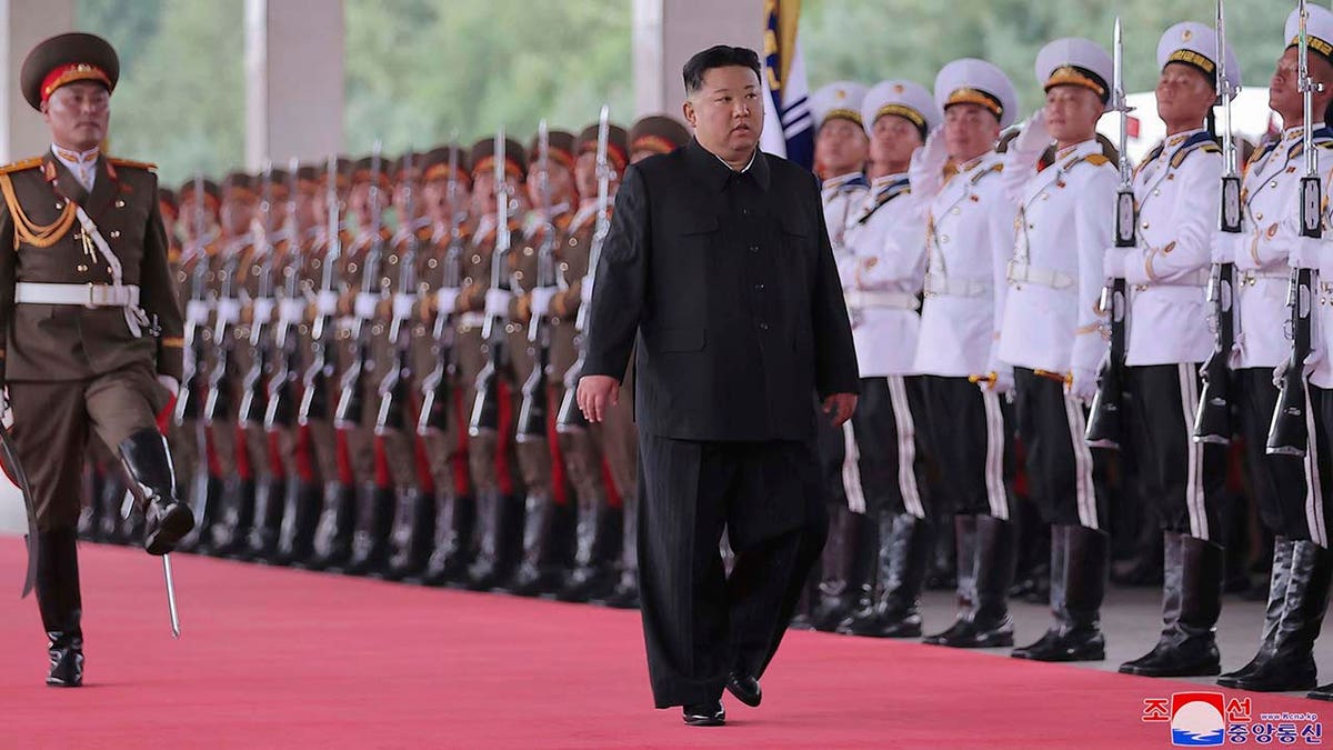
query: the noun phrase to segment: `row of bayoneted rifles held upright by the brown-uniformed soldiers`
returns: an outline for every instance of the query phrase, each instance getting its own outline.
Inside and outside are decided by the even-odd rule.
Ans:
[[[597,128],[597,215],[591,244],[588,280],[584,284],[584,299],[592,299],[592,279],[597,268],[597,259],[603,242],[611,230],[609,220],[609,191],[611,165],[607,159],[607,144],[609,136],[609,108],[603,107]],[[455,139],[456,140],[456,139]],[[549,137],[545,120],[539,125],[539,160],[541,169],[537,172],[539,192],[541,206],[539,207],[544,220],[541,234],[541,247],[537,260],[537,279],[533,294],[549,295],[557,286],[556,278],[556,227],[551,218],[549,184],[547,177],[547,157],[549,153]],[[380,173],[383,171],[380,157],[380,143],[376,141],[371,163],[371,206],[380,206]],[[449,183],[447,192],[449,203],[453,206],[459,192],[457,184],[457,148],[449,155]],[[404,236],[404,250],[399,263],[397,292],[387,295],[380,287],[380,263],[384,256],[384,238],[381,231],[380,211],[372,211],[373,223],[369,227],[371,244],[367,250],[361,270],[361,288],[356,294],[352,316],[351,335],[355,339],[355,355],[337,372],[336,340],[339,300],[341,298],[340,279],[336,267],[343,255],[340,230],[340,203],[337,195],[337,157],[331,156],[327,163],[328,179],[325,202],[328,207],[327,252],[324,255],[323,275],[319,290],[315,292],[315,318],[311,323],[309,362],[303,362],[303,350],[296,335],[296,330],[305,322],[308,300],[300,290],[300,274],[287,274],[284,280],[284,295],[280,300],[273,295],[273,263],[275,252],[272,243],[275,239],[273,227],[269,226],[272,216],[272,179],[271,168],[264,169],[260,210],[264,216],[261,236],[257,242],[265,243],[267,252],[263,254],[260,266],[259,294],[252,300],[252,323],[249,330],[249,346],[253,351],[253,360],[247,372],[237,371],[235,358],[235,327],[241,319],[241,300],[236,288],[236,275],[241,263],[240,250],[233,251],[224,260],[224,274],[220,290],[211,294],[207,288],[208,262],[200,258],[196,262],[191,278],[191,299],[185,306],[185,374],[181,383],[180,396],[176,400],[175,419],[180,424],[185,420],[203,420],[205,424],[225,423],[233,418],[241,424],[263,424],[265,428],[292,427],[311,422],[333,422],[336,427],[356,427],[368,422],[368,404],[365,395],[371,390],[377,372],[380,382],[376,386],[379,395],[379,411],[375,416],[375,430],[377,434],[387,431],[401,431],[409,428],[408,403],[412,400],[411,388],[416,378],[412,372],[411,356],[411,318],[419,300],[416,299],[416,256],[419,239],[412,231],[411,218],[415,215],[415,195],[411,184],[407,185],[404,196],[404,214],[407,216],[404,227],[408,230]],[[412,156],[408,156],[405,172],[412,173]],[[296,179],[297,164],[292,160],[288,173]],[[504,128],[495,137],[495,191],[496,191],[496,240],[491,258],[491,288],[487,295],[487,318],[483,328],[484,351],[487,364],[477,375],[476,400],[472,404],[469,434],[473,436],[495,435],[500,424],[500,382],[508,367],[507,346],[507,300],[512,294],[509,274],[507,272],[511,252],[511,206],[513,202],[512,188],[505,179],[505,132]],[[203,195],[203,177],[195,177],[195,195]],[[295,202],[296,185],[291,185],[288,192]],[[203,202],[196,202],[195,236],[204,236]],[[295,216],[295,211],[289,215]],[[463,262],[463,214],[453,212],[449,226],[449,244],[444,256],[443,284],[436,290],[437,311],[433,327],[436,367],[432,372],[424,374],[421,379],[421,410],[416,431],[427,434],[431,431],[444,431],[449,428],[449,410],[453,403],[453,334],[455,334],[455,300],[460,294],[461,262]],[[292,238],[295,242],[296,238]],[[389,299],[392,304],[392,318],[388,331],[388,340],[393,343],[392,362],[375,362],[373,322],[380,303]],[[549,299],[549,298],[548,298]],[[539,306],[539,310],[544,306]],[[579,359],[569,372],[563,374],[565,379],[565,398],[560,404],[557,427],[560,431],[580,431],[587,428],[587,420],[575,400],[575,386],[583,370],[587,351],[588,304],[579,307],[575,322],[579,331]],[[276,312],[276,316],[275,316]],[[207,347],[203,331],[209,326],[212,315],[213,328],[213,364],[207,366]],[[540,440],[547,436],[547,419],[551,404],[548,403],[548,367],[551,362],[551,332],[547,315],[535,314],[528,324],[528,343],[532,347],[533,359],[537,363],[532,375],[523,384],[523,402],[516,424],[517,440]],[[335,388],[335,379],[339,379]],[[231,383],[241,383],[240,403],[232,403]],[[335,400],[336,395],[336,400]]]

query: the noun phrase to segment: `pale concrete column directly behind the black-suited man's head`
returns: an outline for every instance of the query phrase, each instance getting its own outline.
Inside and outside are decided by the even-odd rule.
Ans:
[[[680,68],[714,44],[764,53],[764,0],[635,0],[635,116],[680,117]],[[621,117],[627,119],[627,117]]]

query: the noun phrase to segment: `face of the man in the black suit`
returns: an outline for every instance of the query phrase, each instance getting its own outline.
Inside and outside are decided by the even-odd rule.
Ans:
[[[729,160],[746,159],[764,131],[764,103],[754,71],[744,65],[713,68],[685,101],[685,121],[708,151]]]

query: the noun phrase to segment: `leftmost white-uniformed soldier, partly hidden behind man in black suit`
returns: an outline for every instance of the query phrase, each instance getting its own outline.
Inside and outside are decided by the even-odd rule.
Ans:
[[[852,278],[846,227],[870,190],[864,173],[869,152],[869,139],[861,121],[865,91],[862,84],[837,81],[810,96],[810,112],[817,128],[814,168],[824,180],[824,222],[844,288]],[[842,428],[818,420],[817,442],[829,498],[829,536],[820,565],[810,573],[805,594],[797,605],[794,626],[833,630],[856,609],[874,552],[869,551],[873,543],[869,519],[864,512],[848,510],[842,480],[846,436]]]

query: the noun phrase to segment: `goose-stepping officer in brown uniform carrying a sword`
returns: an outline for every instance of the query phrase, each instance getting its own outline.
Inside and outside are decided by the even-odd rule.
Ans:
[[[55,36],[20,88],[51,149],[0,169],[0,379],[32,483],[29,554],[47,685],[83,685],[79,522],[84,450],[115,446],[145,512],[149,554],[193,528],[156,415],[179,390],[183,322],[149,164],[101,153],[120,64],[105,40]],[[0,411],[4,411],[0,404]]]

